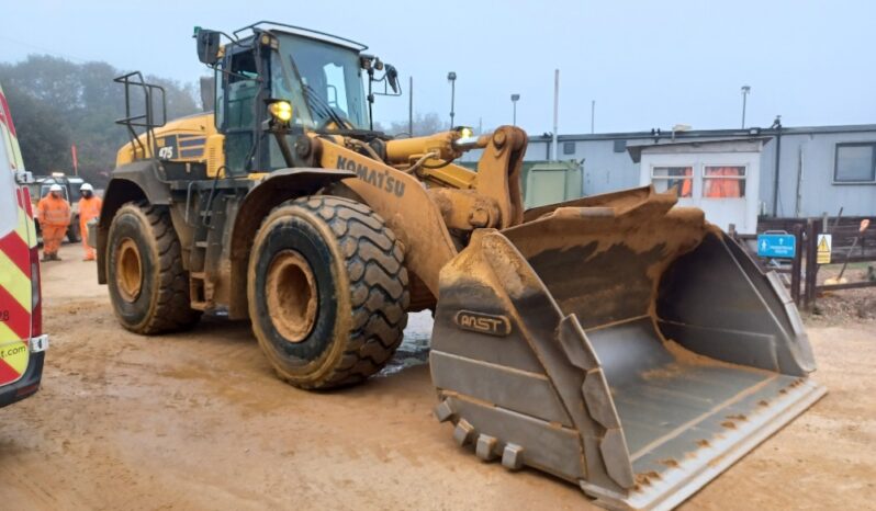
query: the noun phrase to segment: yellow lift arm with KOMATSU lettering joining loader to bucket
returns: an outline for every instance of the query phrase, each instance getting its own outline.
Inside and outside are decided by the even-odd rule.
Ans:
[[[389,162],[358,152],[340,136],[308,136],[321,167],[356,172],[344,184],[397,234],[408,268],[436,297],[440,269],[471,231],[523,220],[519,172],[527,138],[519,128],[503,126],[467,146],[458,144],[460,132],[390,140]],[[483,149],[476,172],[447,162],[471,148]],[[417,161],[422,167],[405,171]]]

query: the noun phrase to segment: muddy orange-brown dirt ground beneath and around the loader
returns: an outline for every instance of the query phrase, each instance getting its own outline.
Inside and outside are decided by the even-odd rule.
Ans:
[[[127,333],[93,263],[61,256],[44,266],[43,389],[0,410],[0,509],[589,509],[458,448],[425,365],[296,390],[247,323]],[[413,322],[422,344],[428,319]],[[682,509],[876,509],[876,322],[810,338],[830,394]]]

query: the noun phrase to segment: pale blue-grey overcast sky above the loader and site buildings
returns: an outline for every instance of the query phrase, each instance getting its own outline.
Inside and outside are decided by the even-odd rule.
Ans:
[[[422,7],[420,7],[422,5]],[[273,20],[361,41],[394,64],[414,107],[457,124],[559,133],[876,123],[876,2],[860,1],[69,1],[0,0],[0,60],[50,53],[195,81],[192,27]],[[405,90],[405,93],[407,91]],[[407,118],[379,98],[375,120]]]

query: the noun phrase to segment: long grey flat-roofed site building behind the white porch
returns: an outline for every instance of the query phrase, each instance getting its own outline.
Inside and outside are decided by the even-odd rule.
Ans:
[[[562,159],[586,160],[583,186],[587,195],[595,195],[642,182],[642,148],[629,147],[752,138],[770,139],[760,154],[756,198],[762,218],[821,217],[836,215],[840,208],[846,217],[876,214],[876,124],[561,134],[558,152]],[[527,163],[551,154],[551,136],[529,137]],[[749,178],[749,201],[755,198],[753,185]]]

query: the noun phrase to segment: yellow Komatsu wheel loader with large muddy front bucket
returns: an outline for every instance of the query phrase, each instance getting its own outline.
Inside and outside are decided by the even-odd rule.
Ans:
[[[680,503],[824,394],[782,283],[701,211],[651,188],[524,211],[523,130],[393,139],[370,113],[397,72],[364,45],[223,35],[195,31],[213,113],[166,123],[160,87],[117,79],[131,143],[96,228],[128,330],[248,318],[281,378],[324,389],[433,309],[456,441],[609,508]]]

